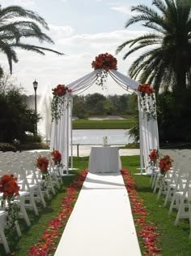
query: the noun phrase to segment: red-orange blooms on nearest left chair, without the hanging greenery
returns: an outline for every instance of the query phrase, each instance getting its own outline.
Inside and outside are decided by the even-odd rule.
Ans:
[[[14,175],[4,174],[0,179],[0,193],[2,198],[15,197],[19,195],[20,187],[17,184],[17,178]]]

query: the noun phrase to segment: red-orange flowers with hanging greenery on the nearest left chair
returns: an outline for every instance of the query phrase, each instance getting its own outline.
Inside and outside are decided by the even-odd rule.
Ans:
[[[15,221],[19,217],[19,205],[15,203],[15,197],[19,195],[19,185],[17,177],[4,174],[0,177],[0,193],[2,193],[1,206],[7,202],[6,211],[6,236],[11,236],[15,232]]]

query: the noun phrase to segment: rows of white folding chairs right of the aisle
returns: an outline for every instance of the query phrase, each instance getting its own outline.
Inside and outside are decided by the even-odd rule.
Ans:
[[[191,239],[191,150],[174,150],[167,153],[174,162],[172,168],[162,177],[159,167],[153,168],[151,188],[157,200],[163,194],[163,206],[168,206],[168,214],[176,210],[175,226],[180,219],[189,219],[189,239]]]

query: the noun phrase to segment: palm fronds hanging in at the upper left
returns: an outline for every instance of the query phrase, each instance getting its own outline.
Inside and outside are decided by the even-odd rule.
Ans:
[[[12,63],[19,61],[16,49],[34,51],[42,55],[45,55],[45,50],[62,54],[56,50],[27,43],[28,38],[36,38],[40,43],[46,41],[53,44],[53,40],[42,32],[40,25],[49,30],[48,24],[36,12],[19,6],[1,8],[0,5],[0,52],[6,54],[11,73]],[[0,77],[1,75],[2,67]]]

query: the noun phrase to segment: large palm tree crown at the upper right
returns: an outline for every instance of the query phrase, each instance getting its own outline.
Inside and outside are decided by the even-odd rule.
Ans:
[[[125,28],[142,22],[151,32],[125,41],[117,53],[129,46],[123,57],[126,59],[145,49],[129,68],[129,76],[151,84],[156,93],[174,89],[180,95],[191,85],[191,1],[153,0],[152,5],[155,9],[145,5],[131,8],[138,15],[130,18]]]

